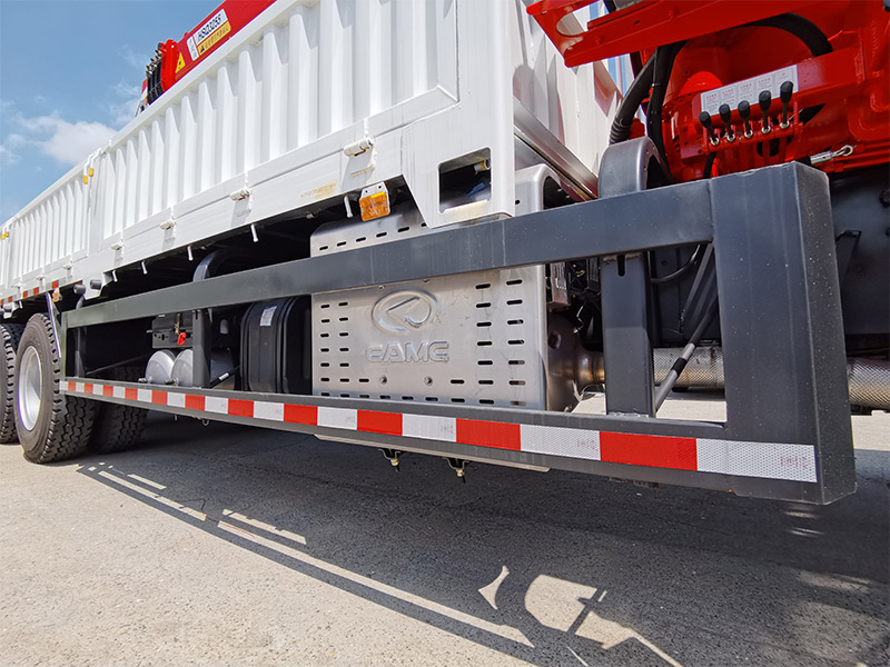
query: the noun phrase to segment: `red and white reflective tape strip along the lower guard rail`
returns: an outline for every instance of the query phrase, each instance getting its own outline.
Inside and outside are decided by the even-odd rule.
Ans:
[[[253,419],[258,425],[301,424],[612,464],[817,481],[815,448],[812,445],[619,434],[461,417],[224,398],[105,382],[63,381],[61,388],[68,394],[113,397],[146,408],[167,406],[204,412],[207,418],[215,415],[241,417]]]

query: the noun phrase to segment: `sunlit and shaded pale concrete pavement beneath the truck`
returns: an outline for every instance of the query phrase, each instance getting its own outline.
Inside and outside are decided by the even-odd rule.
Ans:
[[[890,415],[817,507],[152,417],[0,447],[0,665],[890,663]]]

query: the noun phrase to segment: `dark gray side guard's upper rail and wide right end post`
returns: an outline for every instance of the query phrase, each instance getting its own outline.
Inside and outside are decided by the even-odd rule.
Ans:
[[[728,419],[721,437],[805,442],[817,451],[817,484],[801,482],[792,492],[787,485],[771,488],[768,485],[775,482],[767,480],[728,479],[733,485],[729,488],[817,502],[851,492],[856,474],[828,179],[799,163],[210,278],[86,306],[66,312],[62,325],[67,330],[161,312],[708,240],[713,241],[716,257],[724,351]],[[604,300],[615,298],[621,295],[603,292]],[[629,368],[627,375],[644,378],[644,362]],[[359,402],[329,400],[330,405]],[[451,406],[436,410],[461,411]],[[498,419],[512,419],[521,411],[495,412]],[[705,425],[616,418],[534,414],[537,424],[600,428],[605,420],[615,428],[619,420],[629,432],[689,431],[704,437]]]

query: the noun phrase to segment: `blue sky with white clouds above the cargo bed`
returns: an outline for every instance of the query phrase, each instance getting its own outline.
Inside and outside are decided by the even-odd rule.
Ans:
[[[0,223],[134,116],[159,41],[221,0],[0,0]]]

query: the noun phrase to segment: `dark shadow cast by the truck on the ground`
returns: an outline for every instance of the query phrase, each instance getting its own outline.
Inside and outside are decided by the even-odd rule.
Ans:
[[[887,451],[814,507],[152,417],[78,471],[238,548],[537,665],[879,665]],[[397,631],[397,629],[394,629]]]

